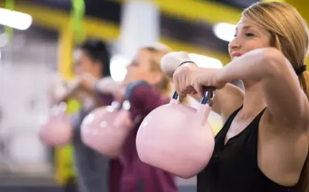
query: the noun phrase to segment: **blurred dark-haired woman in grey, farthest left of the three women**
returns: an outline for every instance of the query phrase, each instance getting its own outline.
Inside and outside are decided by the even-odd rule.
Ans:
[[[98,80],[111,75],[110,58],[110,53],[102,41],[88,40],[80,47],[80,56],[74,66],[77,77],[84,77],[85,74],[90,77],[90,79],[82,79],[80,86],[70,95],[82,101],[82,110],[73,117],[74,160],[80,192],[117,192],[119,190],[121,166],[118,160],[110,160],[95,152],[84,145],[80,138],[80,125],[84,117],[95,107],[111,104],[113,99],[108,95],[98,97],[93,86]]]

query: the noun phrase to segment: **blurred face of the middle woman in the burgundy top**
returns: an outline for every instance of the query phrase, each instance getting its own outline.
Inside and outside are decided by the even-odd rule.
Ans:
[[[124,78],[124,83],[135,82],[138,80],[144,80],[148,84],[157,84],[162,77],[160,71],[152,71],[153,53],[147,49],[140,49],[133,61],[126,67],[127,73]]]

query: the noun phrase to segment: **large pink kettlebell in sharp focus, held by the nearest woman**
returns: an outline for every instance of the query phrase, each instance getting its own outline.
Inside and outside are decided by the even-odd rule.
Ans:
[[[181,178],[196,176],[208,164],[214,151],[214,133],[207,122],[214,89],[208,90],[197,110],[181,104],[175,92],[170,104],[146,116],[136,139],[141,161]]]

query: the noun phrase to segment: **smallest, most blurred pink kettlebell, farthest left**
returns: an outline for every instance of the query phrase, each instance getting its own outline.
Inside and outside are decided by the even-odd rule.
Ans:
[[[41,125],[39,137],[46,145],[63,147],[71,142],[73,125],[71,117],[66,114],[67,104],[52,107],[47,121]]]

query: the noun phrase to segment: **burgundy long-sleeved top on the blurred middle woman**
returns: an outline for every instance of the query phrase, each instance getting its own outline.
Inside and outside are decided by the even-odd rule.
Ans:
[[[126,91],[126,99],[130,102],[130,119],[137,116],[144,119],[155,108],[168,104],[158,91],[146,83],[137,83]],[[121,192],[176,192],[175,176],[147,165],[139,159],[135,144],[137,130],[141,121],[135,125],[124,144],[121,162],[123,165]]]

